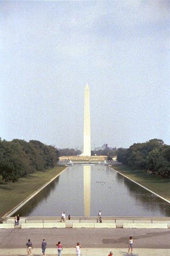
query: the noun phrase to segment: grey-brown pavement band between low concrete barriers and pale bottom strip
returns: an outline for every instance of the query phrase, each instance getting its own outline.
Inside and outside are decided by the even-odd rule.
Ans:
[[[170,249],[170,229],[123,229],[123,228],[33,228],[0,230],[2,249],[24,248],[30,238],[34,248],[40,248],[45,238],[47,246],[54,248],[61,241],[64,248],[80,242],[83,248],[125,248],[133,236],[135,248]]]

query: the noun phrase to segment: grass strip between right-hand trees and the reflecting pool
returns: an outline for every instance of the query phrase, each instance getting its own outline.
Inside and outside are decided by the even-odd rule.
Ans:
[[[112,166],[112,168],[170,200],[170,179],[161,178],[145,171],[133,170],[128,166]]]

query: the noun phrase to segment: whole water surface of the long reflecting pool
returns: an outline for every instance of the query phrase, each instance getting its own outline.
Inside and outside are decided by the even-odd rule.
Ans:
[[[108,166],[77,165],[25,204],[21,216],[170,216],[170,204]]]

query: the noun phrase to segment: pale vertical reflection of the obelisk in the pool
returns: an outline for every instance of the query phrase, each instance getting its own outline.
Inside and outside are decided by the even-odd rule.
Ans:
[[[83,166],[84,216],[90,216],[91,166]]]

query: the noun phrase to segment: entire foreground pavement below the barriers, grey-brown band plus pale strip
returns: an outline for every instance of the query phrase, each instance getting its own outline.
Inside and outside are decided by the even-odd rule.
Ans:
[[[127,252],[129,236],[135,240],[134,254],[138,256],[169,256],[170,229],[1,229],[0,256],[24,256],[25,244],[30,238],[33,243],[33,255],[41,255],[41,241],[47,242],[47,255],[57,255],[55,244],[61,241],[63,255],[75,255],[75,244],[80,242],[82,256],[123,256]]]

